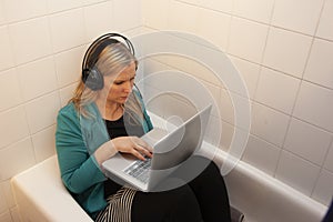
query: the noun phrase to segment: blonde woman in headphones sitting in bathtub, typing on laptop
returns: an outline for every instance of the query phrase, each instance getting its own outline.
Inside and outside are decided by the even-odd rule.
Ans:
[[[58,114],[56,143],[65,188],[95,221],[230,221],[224,181],[213,163],[188,184],[163,192],[124,188],[102,172],[101,163],[117,152],[152,157],[140,139],[153,127],[133,90],[137,67],[133,47],[123,36],[104,34],[87,50],[82,79]],[[208,161],[194,157],[190,162]]]

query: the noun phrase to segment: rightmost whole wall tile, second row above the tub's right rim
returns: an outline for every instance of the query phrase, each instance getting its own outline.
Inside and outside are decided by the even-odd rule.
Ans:
[[[331,140],[332,133],[292,119],[284,148],[317,165],[322,165]]]

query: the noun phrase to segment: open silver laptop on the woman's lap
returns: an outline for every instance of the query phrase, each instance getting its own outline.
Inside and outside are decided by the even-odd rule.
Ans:
[[[153,148],[145,161],[117,153],[102,163],[107,176],[128,186],[150,192],[201,148],[212,104],[170,132],[154,128],[142,139]]]

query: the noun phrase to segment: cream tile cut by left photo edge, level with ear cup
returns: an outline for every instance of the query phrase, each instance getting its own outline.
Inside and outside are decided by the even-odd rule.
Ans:
[[[14,69],[0,72],[0,111],[22,101],[18,75]]]

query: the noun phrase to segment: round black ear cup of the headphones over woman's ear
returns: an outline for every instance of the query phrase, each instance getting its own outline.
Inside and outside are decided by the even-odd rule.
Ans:
[[[92,91],[101,90],[104,87],[103,75],[97,69],[84,69],[82,71],[82,81]]]

